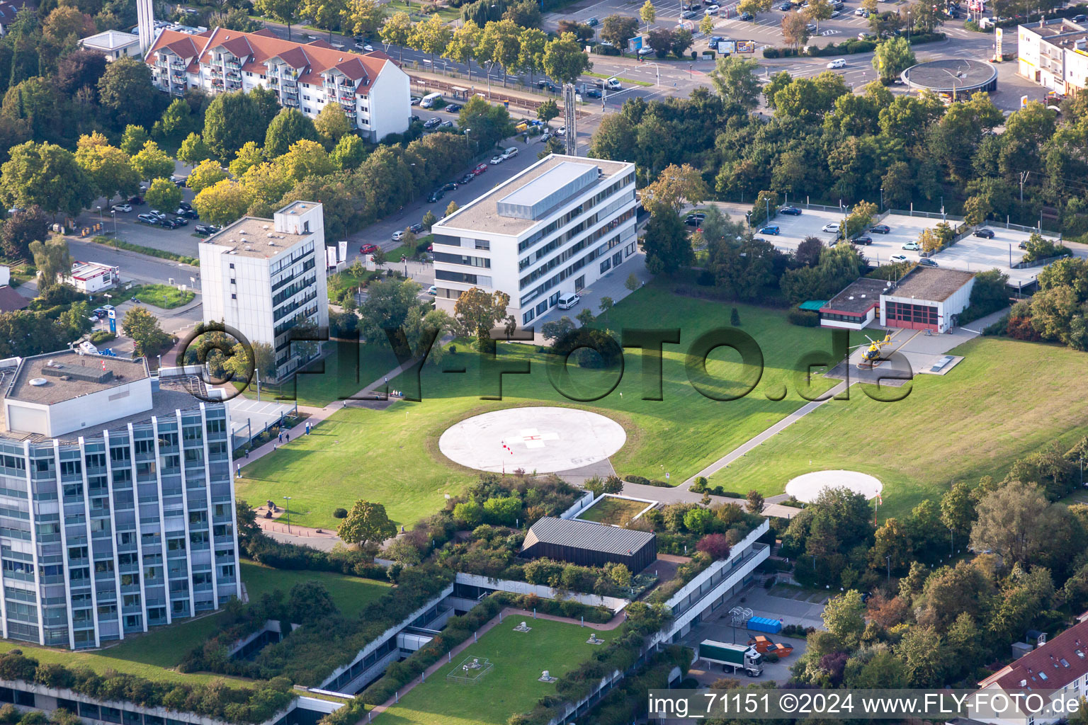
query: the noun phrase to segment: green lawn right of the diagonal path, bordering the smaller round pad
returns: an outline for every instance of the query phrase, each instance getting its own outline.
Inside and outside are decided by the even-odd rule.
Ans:
[[[881,516],[902,516],[951,485],[1004,477],[1018,458],[1053,440],[1072,446],[1088,425],[1085,353],[1052,345],[976,338],[948,375],[919,375],[901,402],[855,386],[715,474],[733,491],[781,493],[803,473],[852,470],[883,485]]]

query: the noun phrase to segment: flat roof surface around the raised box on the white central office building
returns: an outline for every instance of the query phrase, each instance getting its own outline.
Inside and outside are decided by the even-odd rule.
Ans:
[[[503,216],[498,213],[498,202],[510,197],[519,189],[533,184],[553,168],[565,164],[581,166],[583,168],[595,166],[604,173],[604,176],[599,178],[595,185],[591,184],[581,189],[581,191],[594,188],[595,186],[611,184],[615,182],[615,177],[617,175],[629,167],[633,170],[634,166],[634,164],[626,161],[584,159],[582,157],[567,157],[554,153],[545,159],[542,159],[541,161],[537,161],[535,164],[524,170],[517,176],[507,179],[505,183],[499,184],[490,191],[477,197],[468,204],[454,212],[452,215],[435,224],[432,232],[443,233],[447,229],[450,234],[454,234],[457,230],[487,232],[491,234],[502,234],[511,237],[516,237],[523,232],[528,232],[537,224],[542,224],[542,222],[514,216]],[[486,178],[486,176],[482,178]],[[535,191],[531,191],[529,193],[532,193],[534,197],[536,196]]]

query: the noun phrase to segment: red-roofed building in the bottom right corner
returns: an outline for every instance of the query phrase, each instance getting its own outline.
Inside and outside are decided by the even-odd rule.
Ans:
[[[1049,699],[1047,704],[1058,699],[1067,702],[1088,697],[1088,622],[1070,627],[1050,641],[1043,640],[1037,649],[993,673],[978,687],[980,693],[991,698],[999,693],[1024,696],[1033,691],[1041,692]],[[1010,722],[1050,725],[1067,717],[1068,713],[1052,708],[1049,713],[1040,712],[1034,716],[975,718],[993,725]]]

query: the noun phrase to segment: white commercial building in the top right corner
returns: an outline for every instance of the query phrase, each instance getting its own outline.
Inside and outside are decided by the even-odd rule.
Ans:
[[[1075,96],[1088,87],[1088,25],[1055,17],[1016,28],[1016,72]]]

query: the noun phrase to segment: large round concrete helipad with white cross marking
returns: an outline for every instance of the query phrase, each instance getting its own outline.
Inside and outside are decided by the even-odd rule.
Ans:
[[[627,440],[611,418],[573,408],[507,408],[446,429],[438,450],[470,468],[557,473],[607,459]]]

